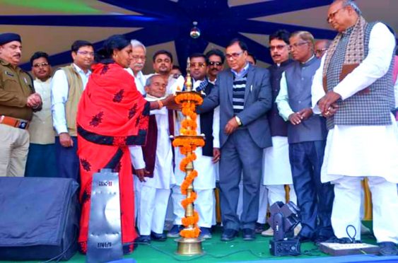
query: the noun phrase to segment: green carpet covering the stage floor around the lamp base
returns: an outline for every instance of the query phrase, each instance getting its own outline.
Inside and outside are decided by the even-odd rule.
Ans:
[[[371,228],[371,222],[365,221],[365,226]],[[233,262],[233,261],[262,261],[280,259],[305,259],[316,257],[329,257],[313,245],[312,242],[303,243],[301,252],[303,255],[298,257],[273,257],[269,254],[269,240],[271,238],[262,237],[257,234],[254,241],[243,241],[241,237],[235,238],[231,242],[220,240],[221,228],[216,228],[213,238],[204,241],[202,244],[204,255],[183,257],[176,255],[177,243],[172,238],[165,242],[151,242],[151,245],[139,245],[131,255],[124,256],[124,259],[135,259],[136,262],[163,263],[163,262]],[[375,244],[373,236],[363,236],[363,242]],[[86,258],[76,253],[69,262],[85,262]],[[36,261],[37,262],[37,261]],[[69,263],[68,262],[68,263]]]

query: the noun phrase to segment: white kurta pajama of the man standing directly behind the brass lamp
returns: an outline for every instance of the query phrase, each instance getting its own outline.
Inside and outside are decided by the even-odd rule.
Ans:
[[[196,89],[201,81],[194,82]],[[175,132],[179,133],[183,115],[178,112],[175,122]],[[213,114],[213,148],[220,148],[218,133],[220,129],[219,110],[214,110]],[[200,115],[197,115],[197,134],[201,134]],[[197,160],[194,160],[194,169],[198,172],[198,177],[194,180],[194,191],[197,192],[197,200],[194,202],[195,210],[199,213],[199,227],[210,228],[215,218],[215,199],[214,191],[216,188],[216,176],[218,175],[218,163],[213,163],[213,157],[203,156],[200,147],[195,151]],[[179,149],[175,149],[175,180],[176,185],[172,187],[172,205],[174,213],[174,224],[182,225],[181,218],[185,216],[181,201],[185,196],[181,194],[181,184],[185,178],[185,173],[180,170],[180,162],[184,158]]]

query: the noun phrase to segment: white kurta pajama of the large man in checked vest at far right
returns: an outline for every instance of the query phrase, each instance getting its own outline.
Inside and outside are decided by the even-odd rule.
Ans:
[[[390,30],[377,23],[370,33],[368,57],[334,88],[334,92],[345,100],[384,76],[394,46]],[[323,64],[324,58],[312,84],[315,113],[319,113],[317,101],[324,95]],[[398,129],[394,122],[386,126],[334,125],[329,131],[321,180],[334,183],[332,226],[337,238],[347,238],[346,226],[352,225],[357,230],[356,239],[361,239],[360,181],[368,177],[377,242],[398,243],[397,156]]]

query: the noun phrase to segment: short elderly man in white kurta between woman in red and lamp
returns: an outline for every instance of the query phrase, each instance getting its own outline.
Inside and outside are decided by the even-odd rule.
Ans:
[[[153,75],[146,81],[146,100],[154,101],[165,95],[166,84],[162,76]],[[147,144],[156,143],[156,157],[153,168],[153,177],[146,177],[150,172],[146,170],[148,162],[144,160],[141,147],[130,147],[131,157],[134,160],[134,170],[139,180],[139,192],[136,192],[137,203],[139,204],[137,224],[141,235],[141,242],[151,240],[164,241],[163,234],[165,216],[168,208],[170,189],[175,184],[175,177],[172,165],[172,146],[170,141],[170,129],[168,110],[163,107],[160,110],[151,110],[151,115],[156,118],[157,139],[147,141]],[[151,129],[149,127],[149,129]]]

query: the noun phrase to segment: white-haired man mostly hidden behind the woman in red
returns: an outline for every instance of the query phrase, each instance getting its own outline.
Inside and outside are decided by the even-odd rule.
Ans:
[[[134,76],[136,88],[142,95],[145,95],[145,83],[146,77],[142,74],[146,62],[146,47],[139,40],[131,40],[131,47],[133,47],[133,53],[131,56],[131,63],[128,69],[129,74]]]

